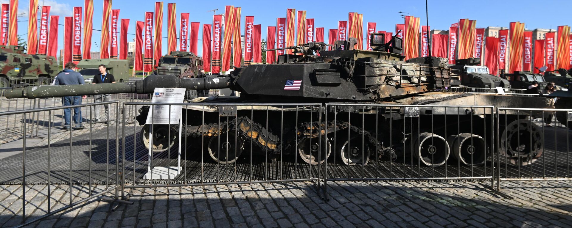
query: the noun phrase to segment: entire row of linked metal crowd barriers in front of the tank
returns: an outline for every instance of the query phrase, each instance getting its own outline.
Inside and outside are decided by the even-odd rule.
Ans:
[[[30,125],[22,126],[22,153],[0,166],[3,185],[21,185],[21,194],[13,193],[25,208],[20,225],[84,202],[124,203],[135,188],[312,181],[327,199],[332,181],[479,180],[501,190],[501,181],[570,179],[567,109],[105,103],[113,110],[109,125],[86,122],[86,129],[58,133],[59,125],[48,124],[45,146],[26,149]],[[68,107],[91,113],[101,104]],[[50,123],[64,108],[7,111],[0,118],[46,115]],[[180,110],[182,118],[159,117],[153,111],[159,109]],[[69,139],[51,140],[66,134]],[[38,186],[47,205],[26,197]],[[69,197],[54,197],[58,191]]]

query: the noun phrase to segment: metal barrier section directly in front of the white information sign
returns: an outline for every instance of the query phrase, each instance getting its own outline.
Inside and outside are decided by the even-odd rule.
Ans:
[[[125,110],[182,109],[180,121],[122,127],[124,187],[317,181],[319,103],[133,103]],[[151,111],[153,112],[153,111]],[[126,113],[124,113],[125,115]],[[149,149],[152,145],[152,149]],[[317,158],[316,158],[317,157]]]

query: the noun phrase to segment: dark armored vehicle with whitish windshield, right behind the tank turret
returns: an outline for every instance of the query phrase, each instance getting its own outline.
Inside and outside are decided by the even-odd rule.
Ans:
[[[455,65],[450,67],[453,73],[460,75],[460,83],[463,86],[491,89],[495,87],[508,89],[511,87],[506,79],[490,74],[488,67],[479,65],[480,59],[468,58],[457,59]]]

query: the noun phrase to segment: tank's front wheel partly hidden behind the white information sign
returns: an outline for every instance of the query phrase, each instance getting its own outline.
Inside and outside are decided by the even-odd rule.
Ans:
[[[145,148],[149,149],[149,131],[150,125],[143,126],[141,129],[141,141],[145,145]],[[153,152],[162,152],[175,144],[176,133],[171,131],[169,138],[169,127],[168,125],[154,125],[153,126]]]

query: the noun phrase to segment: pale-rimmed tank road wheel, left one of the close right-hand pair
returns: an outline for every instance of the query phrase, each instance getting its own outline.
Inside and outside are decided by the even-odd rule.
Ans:
[[[442,166],[449,158],[449,145],[443,137],[424,132],[413,142],[412,153],[426,166]]]

